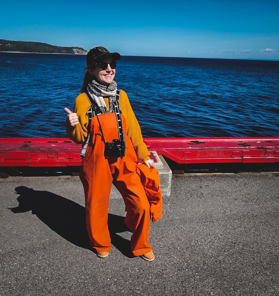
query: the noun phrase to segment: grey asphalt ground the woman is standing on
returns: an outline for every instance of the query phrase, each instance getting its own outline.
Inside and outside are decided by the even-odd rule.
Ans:
[[[130,253],[122,199],[110,200],[101,259],[79,177],[1,179],[0,295],[279,295],[278,180],[174,175],[148,262]]]

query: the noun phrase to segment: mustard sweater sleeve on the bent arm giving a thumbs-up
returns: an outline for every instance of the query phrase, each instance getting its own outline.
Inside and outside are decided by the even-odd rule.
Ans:
[[[88,116],[87,111],[90,108],[90,103],[86,95],[80,94],[74,103],[73,113],[77,113],[79,124],[72,126],[66,119],[66,131],[68,137],[77,144],[82,144],[87,136]]]

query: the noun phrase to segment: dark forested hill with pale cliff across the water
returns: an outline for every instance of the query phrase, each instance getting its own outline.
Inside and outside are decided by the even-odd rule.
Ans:
[[[62,47],[42,42],[11,41],[0,39],[0,52],[40,52],[87,54],[81,47]]]

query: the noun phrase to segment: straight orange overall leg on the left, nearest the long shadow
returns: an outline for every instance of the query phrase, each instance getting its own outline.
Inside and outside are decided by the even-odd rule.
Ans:
[[[84,187],[86,227],[89,244],[97,252],[109,252],[111,249],[108,229],[109,194],[112,176],[107,165],[92,170],[90,177],[80,172]]]

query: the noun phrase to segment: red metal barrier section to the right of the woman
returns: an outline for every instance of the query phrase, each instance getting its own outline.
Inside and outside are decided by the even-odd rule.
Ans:
[[[155,150],[177,163],[271,163],[279,161],[279,138],[149,138]]]

